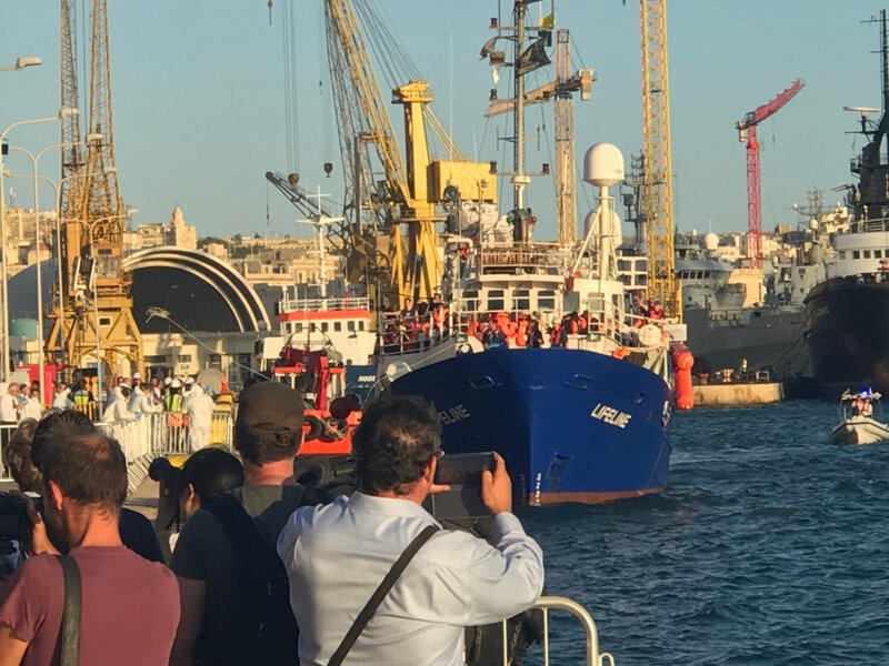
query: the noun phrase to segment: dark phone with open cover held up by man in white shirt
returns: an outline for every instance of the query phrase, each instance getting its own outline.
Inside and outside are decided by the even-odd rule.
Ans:
[[[493,468],[492,451],[444,454],[438,461],[434,483],[451,490],[429,495],[426,508],[438,519],[488,517],[488,508],[481,502],[481,473]]]

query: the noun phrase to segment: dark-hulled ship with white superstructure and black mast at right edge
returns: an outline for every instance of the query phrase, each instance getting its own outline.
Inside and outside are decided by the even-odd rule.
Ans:
[[[889,44],[886,10],[880,12],[882,109],[847,107],[860,113],[868,143],[851,161],[858,184],[847,201],[846,233],[833,235],[827,280],[806,299],[806,341],[816,382],[827,393],[872,387],[889,391]],[[878,122],[868,114],[880,112]]]

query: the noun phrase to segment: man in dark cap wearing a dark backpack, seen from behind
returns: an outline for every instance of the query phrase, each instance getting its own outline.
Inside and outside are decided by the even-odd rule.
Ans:
[[[183,525],[171,568],[182,616],[170,664],[297,664],[287,573],[274,543],[287,518],[319,496],[293,480],[302,395],[276,382],[244,389],[234,448],[244,485]]]

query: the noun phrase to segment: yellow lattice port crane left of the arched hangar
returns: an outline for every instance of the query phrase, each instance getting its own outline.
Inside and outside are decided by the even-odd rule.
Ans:
[[[76,0],[61,0],[61,103],[79,108]],[[59,284],[48,354],[67,367],[94,361],[117,374],[142,370],[142,339],[123,270],[128,218],[114,167],[107,0],[92,0],[87,132],[76,117],[61,128]],[[86,140],[86,141],[84,141]]]

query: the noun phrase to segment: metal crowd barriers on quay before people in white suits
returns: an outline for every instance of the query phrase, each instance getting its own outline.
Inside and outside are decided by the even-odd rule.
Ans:
[[[188,417],[181,412],[152,412],[134,421],[111,421],[96,425],[117,440],[123,450],[130,494],[146,480],[148,466],[156,457],[188,455],[193,451]],[[231,413],[213,412],[209,444],[232,451]]]

